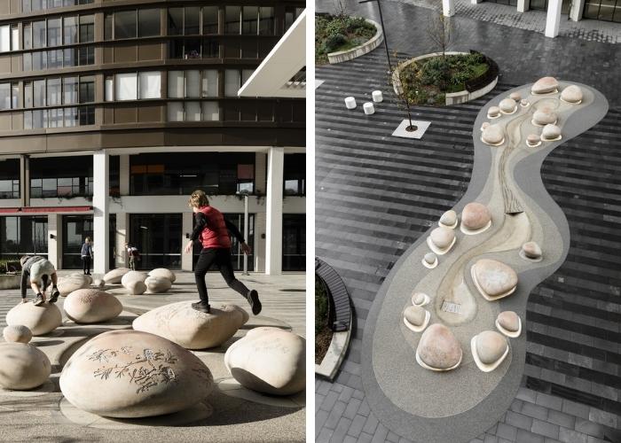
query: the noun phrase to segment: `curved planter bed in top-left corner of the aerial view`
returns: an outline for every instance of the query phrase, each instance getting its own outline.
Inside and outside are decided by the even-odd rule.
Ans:
[[[342,63],[373,51],[383,41],[381,26],[370,19],[317,14],[315,63]]]

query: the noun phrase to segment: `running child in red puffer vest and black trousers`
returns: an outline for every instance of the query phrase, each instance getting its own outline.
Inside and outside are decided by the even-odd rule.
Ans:
[[[240,234],[240,230],[232,224],[232,222],[224,219],[224,215],[215,207],[209,206],[207,195],[202,190],[195,190],[188,200],[188,206],[192,207],[196,225],[190,237],[190,243],[185,246],[185,253],[192,251],[194,241],[200,240],[202,251],[196,268],[194,268],[194,277],[196,278],[196,286],[199,290],[200,301],[193,303],[192,307],[198,311],[209,313],[209,299],[207,296],[207,285],[205,284],[205,275],[211,265],[216,265],[220,274],[224,277],[224,281],[229,287],[238,291],[248,300],[252,313],[258,315],[261,312],[261,301],[259,294],[254,289],[248,290],[245,284],[241,283],[233,274],[231,264],[231,237],[232,235],[238,239],[241,250],[245,254],[250,254],[250,246],[246,244],[246,240]]]

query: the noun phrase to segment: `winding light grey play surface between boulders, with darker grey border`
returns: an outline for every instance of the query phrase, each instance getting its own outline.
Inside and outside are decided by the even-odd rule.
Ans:
[[[569,84],[576,83],[561,82],[560,89]],[[494,319],[502,310],[514,310],[524,324],[532,288],[565,260],[570,245],[567,220],[547,194],[539,170],[556,146],[593,127],[608,112],[601,93],[579,86],[585,93],[580,105],[563,103],[560,94],[530,96],[531,85],[526,85],[483,106],[473,128],[473,178],[454,209],[460,214],[472,201],[487,205],[491,229],[476,236],[465,236],[456,229],[457,244],[441,256],[440,265],[433,270],[421,265],[428,252],[427,236],[421,236],[397,261],[373,300],[363,338],[362,382],[371,410],[389,429],[421,442],[467,441],[496,424],[515,398],[523,376],[525,334],[510,340],[509,356],[491,373],[477,369],[469,342],[483,330],[495,330]],[[504,144],[483,144],[479,128],[488,120],[488,108],[514,91],[527,97],[531,106],[518,107],[517,113],[492,121],[503,127]],[[531,124],[531,116],[543,105],[556,108],[562,140],[527,147],[526,136],[536,130],[540,134],[541,128]],[[507,198],[516,202],[507,205]],[[505,214],[507,207],[518,206],[523,213]],[[542,245],[544,260],[533,263],[518,256],[520,246],[529,240]],[[488,302],[476,291],[469,269],[483,255],[509,264],[518,273],[517,291],[507,299]],[[460,368],[436,373],[415,362],[421,334],[406,329],[401,320],[413,291],[431,295],[432,302],[426,307],[431,323],[446,324],[460,341],[464,353]],[[459,303],[460,314],[442,311],[444,299]]]

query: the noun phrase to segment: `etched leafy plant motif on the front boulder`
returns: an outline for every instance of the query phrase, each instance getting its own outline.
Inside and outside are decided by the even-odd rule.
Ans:
[[[116,357],[119,352],[122,354],[133,354],[131,347],[123,346],[120,351],[114,349],[100,349],[90,354],[90,361],[107,363],[112,357]],[[177,376],[175,371],[170,368],[171,364],[177,363],[177,357],[166,350],[153,351],[153,349],[143,349],[142,354],[136,355],[134,361],[124,364],[114,364],[110,367],[98,368],[93,372],[93,377],[107,380],[113,375],[116,378],[128,377],[130,384],[137,385],[136,393],[147,392],[154,386],[161,384],[176,383]]]

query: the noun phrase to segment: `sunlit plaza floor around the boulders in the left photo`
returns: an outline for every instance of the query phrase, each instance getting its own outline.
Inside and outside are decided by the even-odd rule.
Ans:
[[[60,276],[67,273],[59,271]],[[154,307],[197,300],[193,274],[178,272],[173,287],[162,294],[127,295],[120,284],[107,285],[106,291],[117,296],[123,305],[122,315],[112,322],[76,325],[64,317],[57,330],[34,338],[31,343],[52,362],[51,383],[31,392],[0,390],[0,441],[303,441],[304,393],[278,398],[241,388],[224,367],[224,353],[248,330],[258,326],[276,326],[305,336],[305,276],[287,273],[237,277],[259,291],[263,311],[252,315],[246,299],[228,288],[219,273],[208,274],[210,304],[237,304],[248,311],[250,320],[223,346],[193,351],[208,365],[216,382],[214,392],[198,407],[149,419],[100,419],[72,408],[59,390],[61,364],[84,339],[105,330],[129,329],[137,315]],[[63,301],[59,299],[60,308]],[[0,291],[0,326],[4,327],[6,313],[19,302],[19,290]]]

